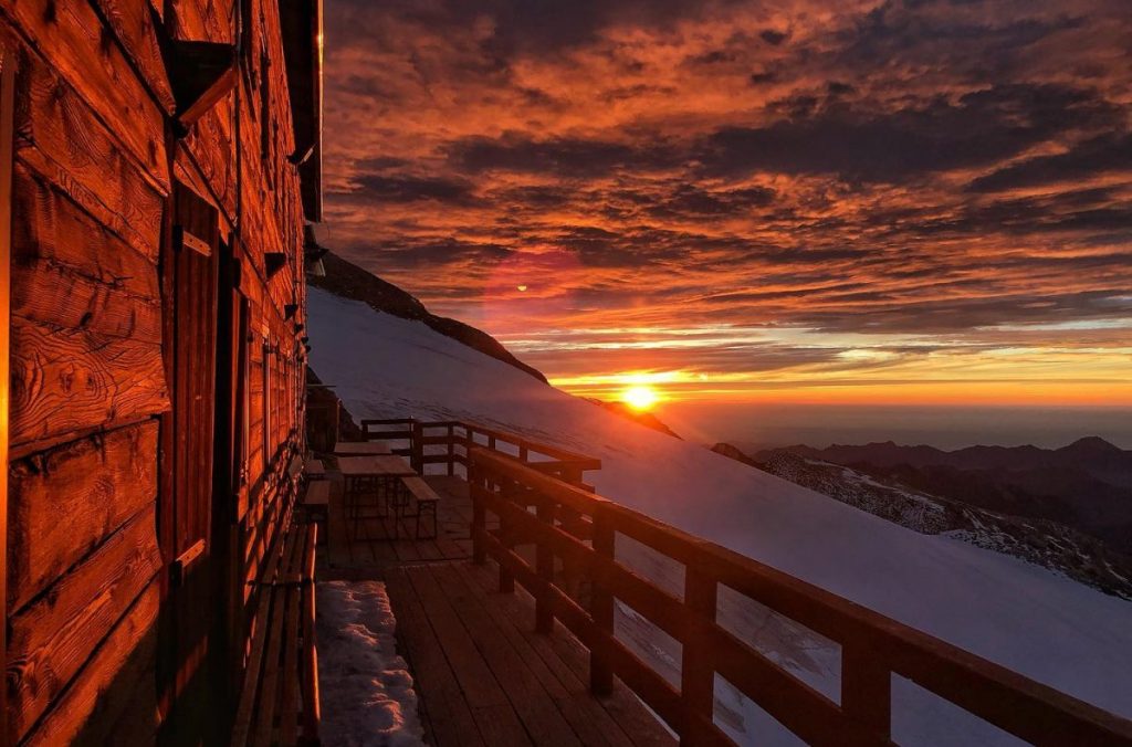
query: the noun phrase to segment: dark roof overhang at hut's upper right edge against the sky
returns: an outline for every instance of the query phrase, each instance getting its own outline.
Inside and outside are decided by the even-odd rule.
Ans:
[[[323,0],[280,0],[302,211],[323,220]]]

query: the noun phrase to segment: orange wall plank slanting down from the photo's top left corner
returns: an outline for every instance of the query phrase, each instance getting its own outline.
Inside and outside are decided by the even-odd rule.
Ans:
[[[59,75],[97,112],[131,157],[158,183],[168,186],[162,111],[121,49],[106,43],[104,26],[94,8],[88,2],[22,0],[7,3],[6,11]]]

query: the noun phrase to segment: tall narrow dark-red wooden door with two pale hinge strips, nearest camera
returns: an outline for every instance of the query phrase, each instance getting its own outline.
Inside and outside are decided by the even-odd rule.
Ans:
[[[212,532],[220,229],[216,208],[174,183],[172,232],[163,261],[166,372],[172,394],[163,439],[168,496],[164,535],[172,557],[166,595],[164,692],[171,707],[162,741],[209,744],[215,714],[209,659],[223,596]],[[220,706],[218,710],[216,706]]]

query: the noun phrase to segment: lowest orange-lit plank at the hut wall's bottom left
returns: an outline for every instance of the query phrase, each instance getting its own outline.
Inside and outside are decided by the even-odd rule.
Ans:
[[[67,693],[25,740],[25,747],[110,744],[111,724],[125,713],[156,725],[152,701],[135,701],[134,685],[153,670],[158,584],[149,584],[126,617],[98,646]]]

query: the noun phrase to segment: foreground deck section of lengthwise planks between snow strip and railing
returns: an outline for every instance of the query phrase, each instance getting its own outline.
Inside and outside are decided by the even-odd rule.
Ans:
[[[386,569],[397,638],[430,744],[675,745],[620,684],[597,699],[589,653],[561,626],[534,633],[533,600],[469,561]]]

